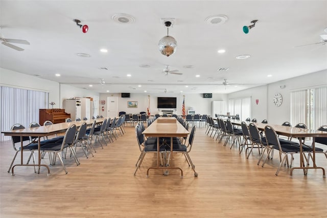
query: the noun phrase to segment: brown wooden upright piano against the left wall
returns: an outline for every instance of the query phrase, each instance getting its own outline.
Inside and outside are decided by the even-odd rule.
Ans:
[[[53,123],[63,123],[67,118],[71,118],[71,114],[66,113],[61,108],[40,109],[39,111],[40,125],[43,125],[46,120],[50,120]]]

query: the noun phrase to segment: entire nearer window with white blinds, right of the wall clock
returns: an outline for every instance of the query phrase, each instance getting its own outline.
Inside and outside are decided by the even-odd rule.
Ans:
[[[291,123],[305,123],[310,129],[327,124],[327,86],[291,93]]]

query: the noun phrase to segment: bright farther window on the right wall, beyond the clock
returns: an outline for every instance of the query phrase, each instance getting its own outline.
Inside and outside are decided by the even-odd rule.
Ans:
[[[229,99],[228,111],[230,115],[240,115],[240,120],[251,117],[251,97]]]

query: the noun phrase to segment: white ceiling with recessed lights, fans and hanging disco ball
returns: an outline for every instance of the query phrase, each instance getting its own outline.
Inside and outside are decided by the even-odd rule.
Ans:
[[[327,34],[327,1],[0,2],[1,35],[31,43],[14,44],[25,49],[20,52],[1,45],[2,68],[101,93],[231,93],[327,69],[327,45],[297,47]],[[112,19],[115,14],[135,21],[120,24]],[[205,22],[219,14],[228,17],[226,23]],[[169,35],[178,46],[170,57],[158,50],[167,35],[161,18],[175,19]],[[73,19],[88,25],[88,32]],[[258,23],[244,34],[242,27],[253,19]],[[251,57],[236,59],[245,54]],[[161,73],[166,64],[183,75]],[[241,85],[224,86],[224,79]]]

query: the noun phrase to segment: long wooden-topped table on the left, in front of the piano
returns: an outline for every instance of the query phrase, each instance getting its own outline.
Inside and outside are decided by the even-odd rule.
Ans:
[[[95,119],[96,123],[102,123],[103,119]],[[81,126],[84,122],[86,122],[87,125],[90,125],[94,122],[93,119],[91,120],[85,120],[85,121],[73,121],[73,122],[64,122],[64,123],[56,123],[53,125],[45,125],[45,126],[37,126],[37,127],[31,127],[31,128],[22,128],[22,129],[14,129],[14,130],[7,130],[2,131],[5,136],[19,136],[20,137],[20,164],[15,164],[11,168],[11,175],[14,176],[14,167],[15,166],[37,166],[39,167],[38,173],[40,172],[40,167],[44,166],[48,169],[48,176],[51,175],[50,168],[46,164],[41,164],[41,155],[40,155],[40,142],[41,137],[44,136],[51,136],[55,134],[64,133],[66,129],[69,128],[70,125],[75,124],[77,127]],[[24,164],[23,163],[23,141],[22,137],[24,136],[31,136],[31,137],[38,137],[38,163],[37,164]]]

